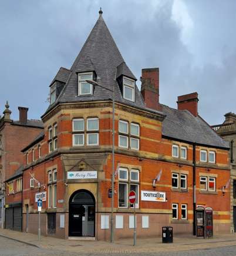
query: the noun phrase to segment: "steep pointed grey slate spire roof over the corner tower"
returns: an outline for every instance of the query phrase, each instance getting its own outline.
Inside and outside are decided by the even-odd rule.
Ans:
[[[112,92],[99,86],[95,87],[93,95],[78,96],[77,95],[77,72],[95,71],[100,79],[97,83],[110,90],[115,88],[115,101],[122,102],[126,105],[139,107],[150,111],[146,108],[143,97],[136,86],[135,102],[123,99],[122,92],[117,84],[117,74],[127,75],[127,77],[136,77],[127,67],[119,49],[107,28],[102,15],[99,16],[95,26],[89,34],[85,44],[83,45],[79,55],[77,55],[75,62],[70,68],[69,79],[65,87],[62,89],[56,102],[49,106],[45,114],[58,103],[65,102],[81,102],[81,101],[102,101],[112,99]],[[66,71],[67,75],[69,74]],[[151,112],[161,114],[160,111],[151,109]],[[43,117],[43,116],[42,116]]]

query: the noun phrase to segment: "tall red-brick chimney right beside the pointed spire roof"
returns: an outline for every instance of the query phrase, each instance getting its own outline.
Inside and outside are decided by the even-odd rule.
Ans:
[[[141,70],[141,94],[148,108],[161,109],[159,103],[159,68]]]

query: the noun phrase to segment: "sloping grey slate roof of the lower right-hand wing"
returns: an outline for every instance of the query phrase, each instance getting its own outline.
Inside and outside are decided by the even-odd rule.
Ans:
[[[166,115],[163,121],[162,134],[170,138],[212,147],[228,148],[224,141],[200,116],[194,117],[187,110],[178,110],[161,104]]]

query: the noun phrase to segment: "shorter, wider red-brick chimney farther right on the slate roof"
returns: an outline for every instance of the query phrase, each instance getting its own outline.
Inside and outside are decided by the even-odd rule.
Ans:
[[[197,92],[193,92],[191,94],[178,96],[178,109],[179,110],[188,110],[194,117],[197,117],[197,102],[198,102],[198,94]]]

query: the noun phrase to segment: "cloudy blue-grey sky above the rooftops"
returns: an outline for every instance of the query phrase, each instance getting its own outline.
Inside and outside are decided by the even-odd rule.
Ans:
[[[236,1],[234,0],[0,0],[0,112],[6,99],[38,119],[49,84],[70,68],[103,18],[127,65],[160,68],[160,102],[197,91],[198,112],[210,124],[236,112]]]

